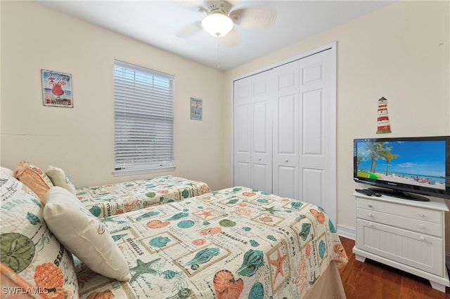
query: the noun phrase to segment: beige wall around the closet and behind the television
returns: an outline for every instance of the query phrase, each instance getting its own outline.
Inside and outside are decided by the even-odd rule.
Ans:
[[[242,74],[338,42],[338,225],[353,228],[352,193],[364,187],[352,179],[353,138],[450,135],[449,28],[449,1],[400,1],[231,69],[224,86]],[[229,130],[224,138],[231,140],[226,117],[231,88],[225,91],[224,126]],[[392,133],[377,135],[377,105],[383,96]],[[230,173],[229,159],[227,167]]]

